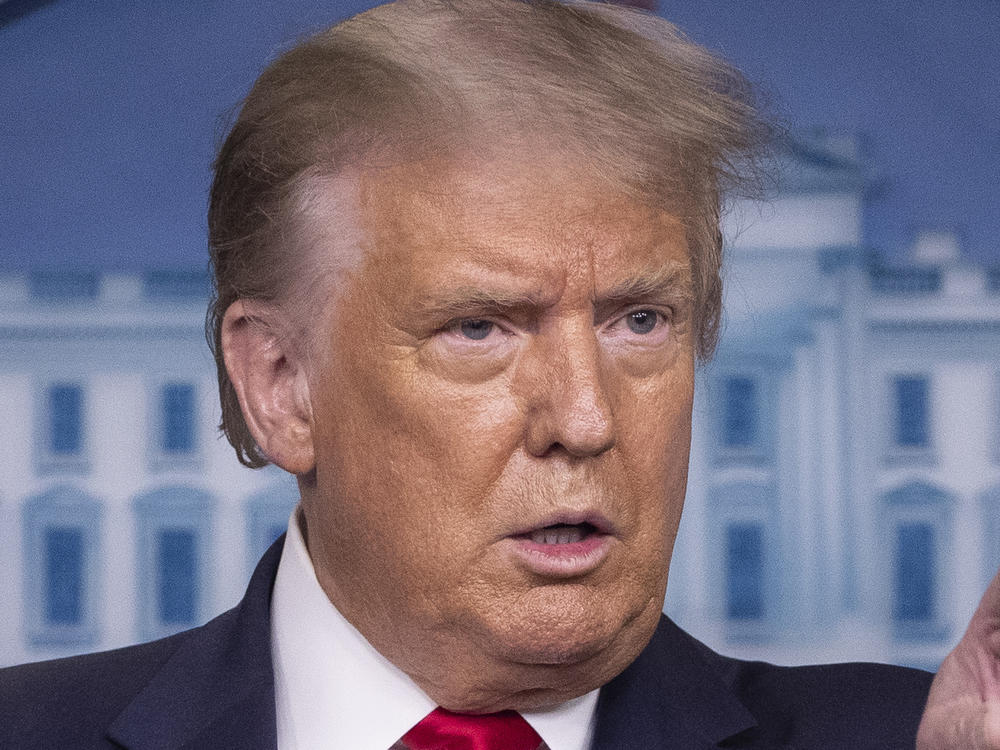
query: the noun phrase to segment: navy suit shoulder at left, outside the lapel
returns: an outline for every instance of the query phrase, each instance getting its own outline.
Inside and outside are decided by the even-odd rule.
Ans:
[[[0,747],[111,747],[108,725],[184,637],[0,669]]]

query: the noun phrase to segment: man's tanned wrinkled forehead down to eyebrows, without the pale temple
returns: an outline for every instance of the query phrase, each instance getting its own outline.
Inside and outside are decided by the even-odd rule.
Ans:
[[[351,304],[596,311],[622,295],[692,296],[676,217],[546,160],[400,165],[362,179],[359,196]]]

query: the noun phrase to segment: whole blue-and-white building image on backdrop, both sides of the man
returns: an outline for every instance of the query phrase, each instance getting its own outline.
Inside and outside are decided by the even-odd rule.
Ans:
[[[779,662],[933,668],[1000,564],[1000,269],[864,247],[865,167],[800,137],[729,218],[667,611]],[[738,227],[738,231],[737,231]],[[215,430],[199,273],[0,276],[0,664],[234,604],[295,501]]]

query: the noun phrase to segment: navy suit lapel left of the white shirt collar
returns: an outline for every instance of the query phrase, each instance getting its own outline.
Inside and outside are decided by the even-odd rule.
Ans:
[[[283,543],[261,559],[237,607],[182,636],[110,739],[129,750],[275,750],[270,609]]]

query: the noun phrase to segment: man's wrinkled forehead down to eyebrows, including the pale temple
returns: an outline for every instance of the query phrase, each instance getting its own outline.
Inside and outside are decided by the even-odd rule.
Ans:
[[[684,223],[579,166],[478,155],[315,180],[309,281],[290,310],[307,345],[326,351],[326,332],[359,316],[405,328],[427,310],[692,302]]]

